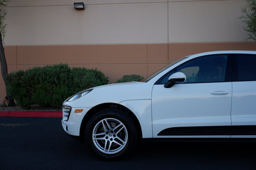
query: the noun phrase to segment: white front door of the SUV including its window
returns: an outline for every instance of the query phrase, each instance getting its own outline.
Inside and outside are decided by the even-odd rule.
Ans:
[[[152,89],[153,137],[230,137],[231,67],[228,55],[189,60],[160,78]],[[164,88],[171,74],[186,81]]]

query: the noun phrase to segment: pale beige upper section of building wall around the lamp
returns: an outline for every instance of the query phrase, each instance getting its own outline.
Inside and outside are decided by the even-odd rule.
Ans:
[[[245,0],[10,0],[6,45],[240,42]],[[80,2],[80,0],[78,1]]]

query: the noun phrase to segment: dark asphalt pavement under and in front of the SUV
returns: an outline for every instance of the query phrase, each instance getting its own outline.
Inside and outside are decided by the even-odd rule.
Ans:
[[[256,170],[256,143],[151,142],[103,161],[68,136],[61,118],[0,117],[0,170]]]

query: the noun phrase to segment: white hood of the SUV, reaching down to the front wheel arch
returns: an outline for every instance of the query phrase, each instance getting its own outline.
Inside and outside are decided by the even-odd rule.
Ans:
[[[125,82],[102,85],[81,98],[63,105],[72,107],[93,107],[102,103],[120,103],[125,100],[151,99],[152,85],[146,82]]]

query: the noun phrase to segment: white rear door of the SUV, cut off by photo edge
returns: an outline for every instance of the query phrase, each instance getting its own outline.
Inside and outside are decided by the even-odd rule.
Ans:
[[[231,137],[256,138],[256,55],[234,56]]]

